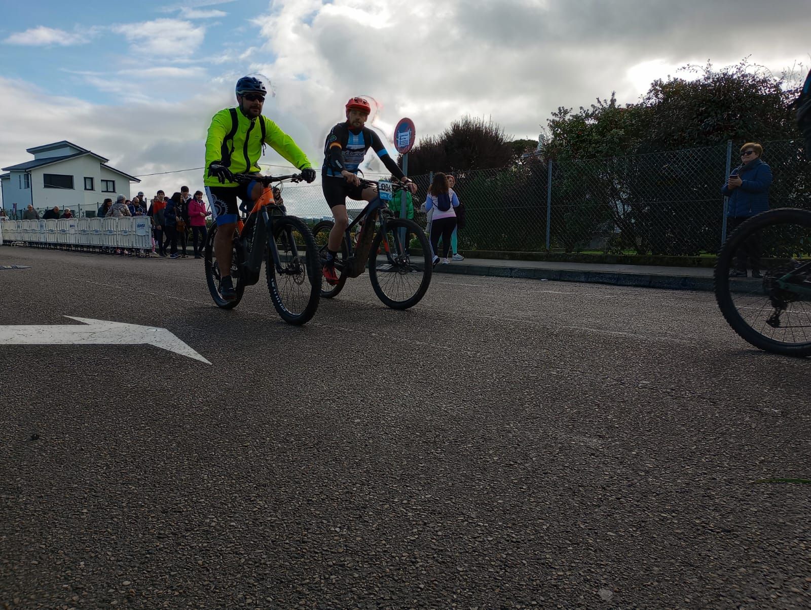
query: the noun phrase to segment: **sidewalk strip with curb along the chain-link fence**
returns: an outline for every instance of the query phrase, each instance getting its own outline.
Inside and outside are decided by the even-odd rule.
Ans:
[[[586,281],[616,286],[640,286],[666,290],[714,290],[713,269],[658,267],[636,264],[556,263],[535,260],[465,259],[438,264],[437,273],[461,273],[491,277],[526,277],[536,280]],[[738,280],[751,290],[760,282]]]

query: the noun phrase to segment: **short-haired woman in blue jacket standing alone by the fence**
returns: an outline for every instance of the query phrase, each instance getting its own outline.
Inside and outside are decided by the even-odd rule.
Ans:
[[[760,158],[762,154],[763,147],[755,142],[741,146],[740,165],[732,170],[727,183],[721,187],[721,192],[729,197],[727,235],[750,217],[769,209],[771,168]],[[738,248],[736,269],[729,273],[729,277],[746,277],[747,262],[752,268],[752,277],[763,277],[760,273],[761,250],[761,236],[753,234]]]

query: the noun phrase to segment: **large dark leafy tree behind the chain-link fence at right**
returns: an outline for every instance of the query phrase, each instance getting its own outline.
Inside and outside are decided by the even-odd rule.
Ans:
[[[618,105],[612,93],[577,113],[552,114],[544,155],[555,162],[552,226],[567,250],[603,236],[614,251],[714,251],[727,140],[797,137],[796,87],[788,75],[776,77],[746,60],[720,70],[709,63],[683,70],[697,78],[656,80],[636,104]],[[792,167],[781,168],[784,175],[794,178],[781,200],[796,199],[803,184],[795,179],[803,173],[797,148],[783,157]],[[773,192],[779,183],[775,171]]]

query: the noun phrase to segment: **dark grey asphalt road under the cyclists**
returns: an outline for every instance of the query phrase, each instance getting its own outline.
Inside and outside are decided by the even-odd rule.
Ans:
[[[808,608],[808,360],[706,293],[367,276],[284,324],[200,260],[0,247],[0,608]],[[38,438],[36,437],[38,436]],[[32,440],[36,439],[36,440]]]

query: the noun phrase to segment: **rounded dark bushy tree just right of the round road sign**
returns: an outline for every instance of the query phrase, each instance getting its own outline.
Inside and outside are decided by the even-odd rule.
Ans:
[[[491,119],[465,116],[411,149],[409,174],[505,167],[513,158],[513,144],[501,127]]]

